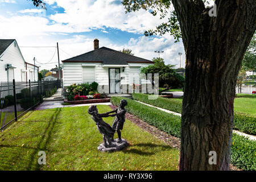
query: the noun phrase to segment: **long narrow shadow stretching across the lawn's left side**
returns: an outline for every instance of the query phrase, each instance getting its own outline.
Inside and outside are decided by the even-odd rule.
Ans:
[[[36,146],[36,148],[34,148],[34,152],[30,156],[30,163],[28,164],[28,166],[26,168],[27,170],[32,169],[32,164],[33,164],[35,158],[39,157],[38,156],[39,151],[45,151],[46,152],[47,144],[49,143],[49,140],[52,137],[52,130],[53,130],[55,124],[56,124],[57,117],[59,116],[60,111],[61,111],[61,108],[56,108],[55,113],[53,113],[51,118],[49,119],[49,123],[48,123],[46,129],[44,130],[44,134],[43,134],[42,138],[38,142],[38,146]],[[36,165],[35,170],[39,170],[41,166],[38,164],[37,160],[36,160],[35,165]]]

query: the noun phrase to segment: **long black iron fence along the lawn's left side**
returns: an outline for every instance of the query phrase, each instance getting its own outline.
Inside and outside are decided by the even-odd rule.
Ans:
[[[52,96],[62,97],[60,80],[0,82],[0,131],[40,104],[44,97]]]

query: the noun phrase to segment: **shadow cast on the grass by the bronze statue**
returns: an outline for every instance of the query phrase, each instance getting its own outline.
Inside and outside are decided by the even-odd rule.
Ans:
[[[166,145],[163,145],[163,144],[152,144],[152,143],[138,143],[138,144],[133,144],[131,145],[132,147],[148,147],[148,148],[159,148],[158,151],[166,151],[166,150],[170,150],[172,149],[172,147],[170,146],[166,146]],[[138,149],[135,149],[135,148],[131,148],[131,149],[127,149],[127,150],[123,150],[124,153],[133,153],[133,154],[138,154],[138,155],[154,155],[156,154],[158,151],[155,151],[155,152],[148,152],[147,150],[145,150],[145,148],[143,150],[138,150]]]

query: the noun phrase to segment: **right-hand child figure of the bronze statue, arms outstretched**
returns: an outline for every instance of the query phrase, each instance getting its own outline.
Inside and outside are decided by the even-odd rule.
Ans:
[[[112,129],[114,129],[115,131],[117,131],[118,134],[118,143],[122,142],[122,138],[121,138],[121,131],[123,129],[123,123],[125,122],[125,113],[126,113],[126,109],[125,106],[127,105],[127,101],[126,100],[121,100],[119,107],[117,107],[117,109],[110,111],[108,113],[105,114],[110,114],[110,113],[115,113],[109,116],[114,117],[115,119],[113,121],[112,124]],[[111,138],[112,141],[114,141],[114,137]]]

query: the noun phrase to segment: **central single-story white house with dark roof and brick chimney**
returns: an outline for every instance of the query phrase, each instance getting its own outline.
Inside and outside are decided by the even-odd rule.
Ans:
[[[154,64],[110,48],[99,48],[98,39],[94,40],[93,51],[62,62],[64,87],[96,81],[105,93],[121,93],[127,85],[141,85],[138,78],[141,68]]]

